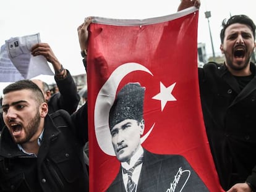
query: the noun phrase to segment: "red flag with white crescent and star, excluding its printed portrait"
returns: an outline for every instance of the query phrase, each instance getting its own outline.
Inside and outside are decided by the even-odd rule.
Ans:
[[[153,154],[184,157],[184,162],[192,167],[186,170],[190,174],[195,172],[208,191],[223,191],[211,157],[200,104],[197,22],[198,10],[194,7],[145,20],[93,17],[87,57],[90,191],[108,190],[121,173],[121,163],[113,148],[116,133],[109,128],[109,112],[119,91],[129,83],[143,87],[145,94],[142,148]],[[130,100],[137,98],[140,94]],[[126,115],[118,110],[117,119]],[[134,135],[134,140],[136,137]],[[155,166],[158,165],[155,162]],[[146,162],[141,169],[143,166]],[[168,176],[169,187],[163,191],[177,191],[185,175],[182,166],[185,165],[174,171],[176,175]],[[158,172],[160,169],[153,173],[147,170],[155,179],[148,179],[150,183],[140,190],[142,179],[139,178],[137,191],[152,191],[153,185],[159,182],[156,178],[168,174]],[[180,191],[193,191],[186,188],[190,178],[183,181]],[[121,189],[126,187],[126,182],[120,180],[116,185]]]

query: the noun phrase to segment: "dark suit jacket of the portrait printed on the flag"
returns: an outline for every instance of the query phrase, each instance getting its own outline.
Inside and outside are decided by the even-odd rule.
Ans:
[[[126,191],[121,167],[107,191]],[[144,149],[137,192],[158,191],[204,192],[209,190],[183,156],[154,154]]]

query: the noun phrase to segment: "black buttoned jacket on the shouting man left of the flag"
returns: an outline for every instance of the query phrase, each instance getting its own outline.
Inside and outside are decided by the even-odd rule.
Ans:
[[[0,191],[88,191],[83,146],[88,141],[87,106],[70,115],[60,110],[45,118],[38,156],[13,143],[4,127],[0,143]]]

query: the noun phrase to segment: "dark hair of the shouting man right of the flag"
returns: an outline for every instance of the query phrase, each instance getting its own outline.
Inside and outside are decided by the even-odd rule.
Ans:
[[[241,24],[249,26],[250,29],[252,30],[252,33],[254,34],[254,40],[255,40],[255,24],[252,21],[252,19],[250,19],[247,15],[233,15],[228,20],[224,19],[222,22],[223,28],[220,33],[221,44],[223,44],[223,41],[224,41],[224,35],[225,35],[226,28],[228,28],[229,25],[232,25],[234,23],[241,23]]]

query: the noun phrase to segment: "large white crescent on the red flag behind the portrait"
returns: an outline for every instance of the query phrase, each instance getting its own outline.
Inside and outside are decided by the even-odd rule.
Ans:
[[[114,148],[112,145],[111,133],[109,130],[109,111],[111,106],[114,103],[114,99],[116,98],[116,91],[119,86],[121,80],[130,72],[134,71],[143,71],[153,74],[141,64],[137,64],[134,62],[130,62],[127,64],[120,65],[116,70],[110,75],[108,80],[102,86],[99,91],[96,102],[95,102],[95,111],[94,111],[94,123],[95,123],[95,134],[96,140],[103,152],[108,154],[109,156],[116,156],[114,153]],[[154,126],[154,125],[153,125]],[[146,133],[140,140],[145,141],[148,137],[149,133],[153,129],[151,129]]]

